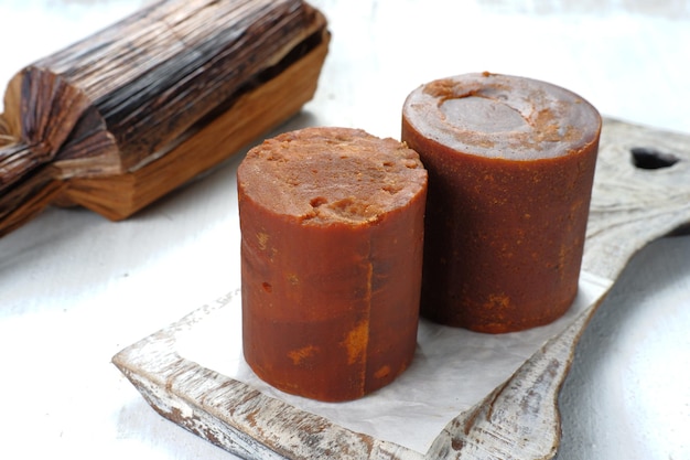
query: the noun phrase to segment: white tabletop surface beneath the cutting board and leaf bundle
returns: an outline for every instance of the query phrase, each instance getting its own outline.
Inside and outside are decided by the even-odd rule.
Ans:
[[[0,2],[0,88],[142,1]],[[306,125],[399,136],[419,84],[490,71],[546,79],[603,115],[690,132],[690,2],[313,1],[333,41]],[[47,210],[0,239],[0,458],[227,459],[162,419],[110,364],[239,286],[239,157],[137,216]],[[690,180],[690,179],[689,179]],[[558,458],[690,459],[690,237],[636,257],[585,332]]]

